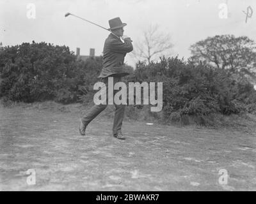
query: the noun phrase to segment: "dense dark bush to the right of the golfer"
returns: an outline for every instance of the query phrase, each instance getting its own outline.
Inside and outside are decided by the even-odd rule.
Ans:
[[[138,62],[134,80],[163,82],[164,117],[171,120],[181,120],[184,115],[252,112],[256,103],[256,91],[245,79],[237,82],[223,69],[193,66],[177,57],[163,57],[148,65]]]

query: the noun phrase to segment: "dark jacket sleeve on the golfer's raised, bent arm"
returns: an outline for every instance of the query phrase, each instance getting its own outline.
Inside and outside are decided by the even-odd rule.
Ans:
[[[109,50],[112,52],[126,54],[127,52],[132,52],[132,41],[131,38],[125,38],[124,43],[121,40],[112,40],[109,44]]]

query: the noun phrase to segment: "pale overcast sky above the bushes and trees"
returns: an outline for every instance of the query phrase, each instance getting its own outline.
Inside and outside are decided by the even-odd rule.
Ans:
[[[35,4],[36,18],[28,18],[27,5]],[[228,18],[220,18],[221,3],[228,5]],[[247,7],[252,18],[245,22]],[[1,0],[0,41],[3,45],[45,41],[67,45],[74,52],[88,55],[90,48],[102,54],[108,31],[75,17],[70,12],[108,28],[108,20],[120,17],[127,23],[125,34],[133,42],[140,40],[150,24],[159,24],[161,32],[170,33],[172,55],[188,58],[189,46],[216,34],[246,35],[256,41],[255,0]],[[134,66],[132,54],[125,62]]]

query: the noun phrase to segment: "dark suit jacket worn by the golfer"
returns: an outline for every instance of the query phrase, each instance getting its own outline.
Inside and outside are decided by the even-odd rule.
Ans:
[[[128,52],[132,52],[132,50],[131,38],[125,38],[123,43],[120,38],[110,33],[104,44],[103,68],[99,77],[123,77],[129,75],[123,65],[125,55]]]

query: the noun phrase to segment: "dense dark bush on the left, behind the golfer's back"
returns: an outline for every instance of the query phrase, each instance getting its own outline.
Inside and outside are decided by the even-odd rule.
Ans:
[[[0,52],[0,97],[12,101],[77,101],[81,87],[93,84],[102,57],[77,61],[68,47],[22,43]]]

